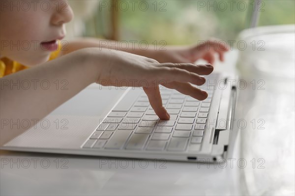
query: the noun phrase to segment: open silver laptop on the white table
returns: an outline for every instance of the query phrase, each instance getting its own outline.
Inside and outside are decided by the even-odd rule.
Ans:
[[[257,20],[254,14],[251,27]],[[207,82],[198,86],[208,92],[203,101],[160,86],[163,105],[171,115],[168,121],[158,119],[141,88],[91,84],[0,149],[186,162],[225,160],[233,134],[237,79],[222,73],[205,78]]]

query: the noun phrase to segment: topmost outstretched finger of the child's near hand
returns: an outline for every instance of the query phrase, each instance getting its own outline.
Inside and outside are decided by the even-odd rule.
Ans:
[[[179,69],[184,69],[189,72],[196,73],[198,75],[209,75],[213,71],[213,66],[212,65],[195,65],[192,63],[163,63],[160,64],[159,67],[176,67]]]

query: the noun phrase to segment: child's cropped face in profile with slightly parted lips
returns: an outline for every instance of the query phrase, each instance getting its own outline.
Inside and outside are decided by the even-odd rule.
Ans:
[[[72,18],[67,0],[0,0],[0,56],[28,66],[47,61]]]

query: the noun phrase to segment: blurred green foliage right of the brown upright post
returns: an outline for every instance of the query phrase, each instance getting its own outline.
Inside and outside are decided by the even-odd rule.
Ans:
[[[193,44],[210,37],[235,40],[249,27],[253,9],[260,13],[259,26],[295,23],[295,0],[263,0],[256,6],[253,0],[119,0],[117,8],[119,40],[148,43]],[[105,20],[103,11],[110,9],[100,9]]]

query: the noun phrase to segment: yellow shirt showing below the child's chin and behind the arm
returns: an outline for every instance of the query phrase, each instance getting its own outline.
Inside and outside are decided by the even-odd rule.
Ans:
[[[49,60],[55,59],[59,56],[59,52],[61,49],[61,44],[59,42],[59,49],[51,53]],[[10,60],[9,58],[3,57],[0,58],[0,78],[3,76],[13,74],[15,72],[28,69],[29,67],[22,65],[16,61]]]

